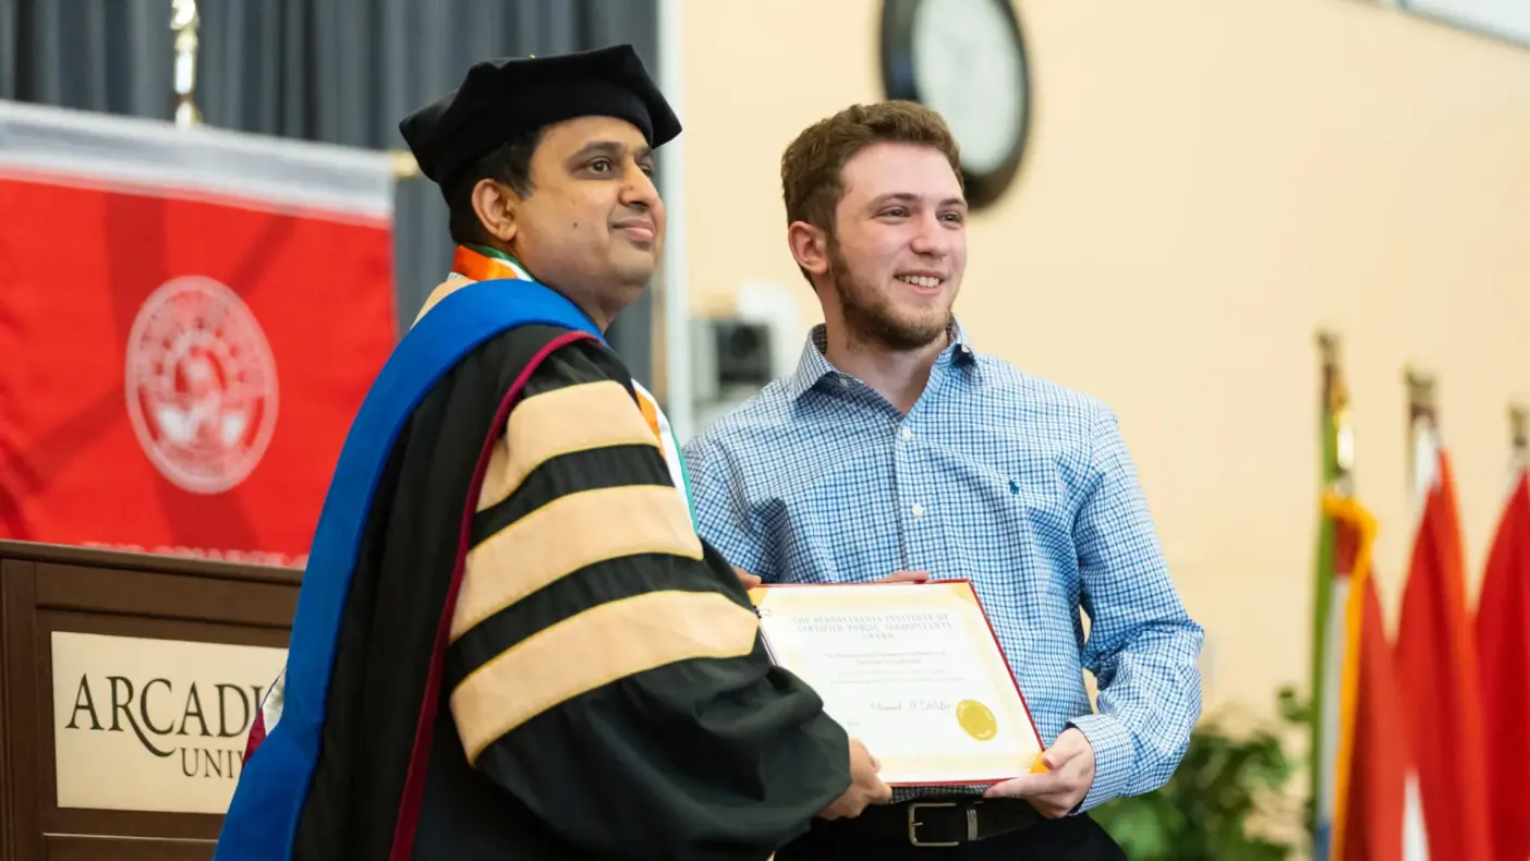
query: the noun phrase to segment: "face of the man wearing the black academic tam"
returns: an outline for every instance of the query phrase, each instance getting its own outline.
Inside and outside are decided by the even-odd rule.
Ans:
[[[483,226],[531,274],[603,327],[638,298],[664,251],[653,150],[636,125],[581,116],[549,125],[531,156],[529,194],[483,180]]]

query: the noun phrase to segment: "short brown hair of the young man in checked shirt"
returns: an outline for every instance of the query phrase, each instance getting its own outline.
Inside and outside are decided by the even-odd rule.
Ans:
[[[845,162],[872,144],[921,144],[946,156],[961,182],[961,153],[946,119],[913,101],[855,104],[803,128],[780,156],[786,223],[806,222],[834,234],[845,194]]]

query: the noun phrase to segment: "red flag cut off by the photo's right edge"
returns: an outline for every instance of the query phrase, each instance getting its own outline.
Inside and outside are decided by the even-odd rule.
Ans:
[[[1498,523],[1476,609],[1495,861],[1530,858],[1530,480]]]

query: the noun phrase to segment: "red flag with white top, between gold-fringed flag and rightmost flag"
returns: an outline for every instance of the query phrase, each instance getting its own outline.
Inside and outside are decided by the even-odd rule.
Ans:
[[[1418,451],[1423,514],[1397,635],[1408,737],[1429,856],[1487,861],[1483,705],[1455,482],[1432,431],[1421,434]]]

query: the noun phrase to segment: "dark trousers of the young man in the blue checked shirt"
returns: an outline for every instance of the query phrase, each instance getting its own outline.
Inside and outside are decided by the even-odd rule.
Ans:
[[[1007,804],[1025,804],[1021,798]],[[991,801],[990,801],[991,804]],[[854,820],[814,820],[812,829],[776,852],[776,861],[1126,861],[1126,853],[1088,814],[1036,817],[1019,830],[950,847],[913,846],[907,803],[874,807]]]

